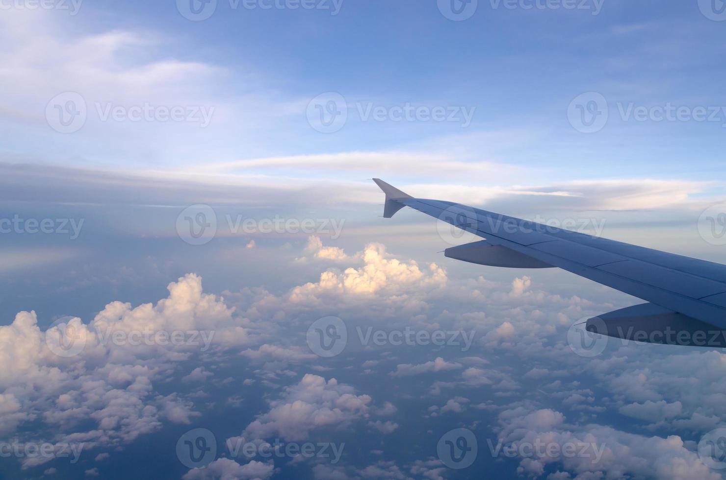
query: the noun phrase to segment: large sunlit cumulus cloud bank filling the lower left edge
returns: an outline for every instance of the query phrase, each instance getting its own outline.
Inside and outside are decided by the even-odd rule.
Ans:
[[[200,277],[181,277],[168,290],[156,305],[112,302],[88,325],[71,318],[41,331],[36,313],[21,312],[0,326],[0,360],[13,365],[0,371],[0,430],[12,434],[25,421],[41,421],[57,432],[53,442],[83,442],[88,450],[131,442],[163,421],[190,423],[197,415],[192,402],[156,393],[153,382],[173,377],[178,360],[205,347],[246,344],[250,335],[224,299],[203,293]],[[209,375],[199,367],[185,378]],[[88,419],[94,426],[79,431]],[[21,461],[28,467],[48,460]]]

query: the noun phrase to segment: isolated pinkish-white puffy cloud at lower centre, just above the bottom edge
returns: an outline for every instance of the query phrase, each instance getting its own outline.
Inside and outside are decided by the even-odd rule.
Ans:
[[[270,410],[259,415],[242,432],[243,438],[265,439],[279,435],[290,442],[306,440],[310,431],[346,426],[369,416],[371,397],[356,395],[355,389],[338,384],[335,378],[306,374],[288,387],[282,398],[270,403]]]

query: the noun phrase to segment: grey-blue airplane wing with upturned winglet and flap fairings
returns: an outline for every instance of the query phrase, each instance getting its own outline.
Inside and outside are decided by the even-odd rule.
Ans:
[[[647,302],[591,318],[587,331],[637,342],[726,347],[726,265],[417,199],[373,181],[386,194],[385,218],[411,207],[484,239],[446,249],[446,257],[497,267],[562,268]]]

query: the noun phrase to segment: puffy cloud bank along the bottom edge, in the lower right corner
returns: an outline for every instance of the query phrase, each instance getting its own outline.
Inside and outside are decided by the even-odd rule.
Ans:
[[[526,407],[505,410],[498,417],[499,444],[512,444],[521,462],[518,473],[542,476],[558,465],[553,478],[658,478],[717,480],[721,476],[701,463],[680,436],[643,436],[588,424],[565,423],[562,413]],[[538,447],[539,445],[539,447]]]

